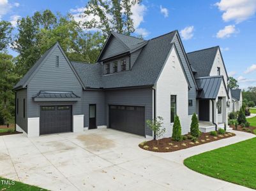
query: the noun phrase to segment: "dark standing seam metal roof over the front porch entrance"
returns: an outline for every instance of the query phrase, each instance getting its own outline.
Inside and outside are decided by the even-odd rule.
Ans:
[[[218,92],[220,90],[220,85],[223,83],[223,76],[209,76],[203,78],[195,79],[199,87],[199,92],[197,92],[197,98],[199,99],[216,99]],[[225,84],[224,84],[225,86]],[[225,88],[227,95],[227,88]]]

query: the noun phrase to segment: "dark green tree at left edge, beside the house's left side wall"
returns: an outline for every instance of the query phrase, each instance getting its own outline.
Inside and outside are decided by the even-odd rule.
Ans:
[[[10,124],[15,115],[15,94],[12,88],[19,79],[11,55],[0,53],[0,71],[0,116],[3,117],[4,124]]]

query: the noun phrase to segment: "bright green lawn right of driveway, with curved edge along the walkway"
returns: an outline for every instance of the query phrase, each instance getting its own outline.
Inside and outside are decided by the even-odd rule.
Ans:
[[[184,160],[193,171],[256,189],[256,138]]]

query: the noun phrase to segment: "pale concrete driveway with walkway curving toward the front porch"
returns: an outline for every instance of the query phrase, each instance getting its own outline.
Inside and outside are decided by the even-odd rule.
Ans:
[[[254,137],[236,134],[172,153],[147,152],[137,146],[144,138],[111,129],[0,136],[0,176],[49,190],[250,190],[183,165],[186,157]]]

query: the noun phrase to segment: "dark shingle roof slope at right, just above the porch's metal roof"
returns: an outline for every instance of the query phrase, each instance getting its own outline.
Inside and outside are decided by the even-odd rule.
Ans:
[[[186,54],[192,68],[197,72],[195,78],[209,76],[218,48],[215,46]]]

